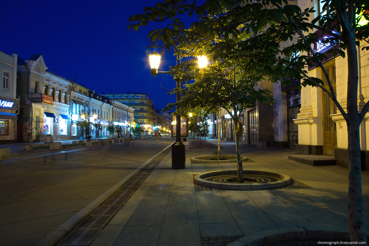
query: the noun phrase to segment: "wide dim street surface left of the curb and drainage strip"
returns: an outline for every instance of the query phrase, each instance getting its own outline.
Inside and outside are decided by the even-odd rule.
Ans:
[[[0,245],[34,245],[173,142],[12,151],[20,156],[0,161]]]

